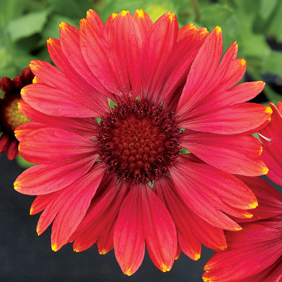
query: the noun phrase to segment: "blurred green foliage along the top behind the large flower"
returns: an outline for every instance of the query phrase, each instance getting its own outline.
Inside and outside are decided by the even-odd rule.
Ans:
[[[1,0],[0,77],[14,77],[30,60],[49,60],[46,40],[59,38],[59,23],[76,28],[92,8],[105,22],[111,13],[136,9],[146,11],[153,21],[167,11],[176,14],[179,26],[194,23],[211,31],[222,27],[224,50],[238,42],[238,57],[247,60],[247,71],[255,80],[265,73],[282,78],[282,55],[268,42],[282,44],[281,0]],[[269,100],[282,97],[268,85]]]

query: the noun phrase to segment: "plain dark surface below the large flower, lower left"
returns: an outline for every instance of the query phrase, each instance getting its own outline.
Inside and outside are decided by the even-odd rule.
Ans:
[[[202,281],[203,267],[212,250],[203,246],[202,256],[193,261],[181,253],[169,272],[161,272],[146,251],[135,274],[121,271],[114,251],[100,255],[96,244],[81,253],[69,243],[59,251],[51,249],[51,226],[36,233],[39,215],[29,215],[35,196],[13,189],[13,182],[24,171],[16,161],[0,155],[0,281]]]

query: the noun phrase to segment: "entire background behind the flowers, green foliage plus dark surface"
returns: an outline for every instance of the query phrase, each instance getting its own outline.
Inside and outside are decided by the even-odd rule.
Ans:
[[[59,39],[60,22],[78,28],[79,20],[90,8],[104,22],[110,14],[122,10],[134,13],[143,9],[153,21],[170,11],[176,14],[180,27],[193,23],[211,31],[221,26],[224,51],[236,40],[238,57],[247,60],[243,81],[266,82],[253,102],[277,104],[282,100],[281,0],[0,0],[0,7],[0,78],[13,79],[30,60],[51,62],[46,40]],[[21,166],[24,163],[20,158],[11,162],[5,153],[0,155],[0,280],[202,281],[203,266],[212,255],[206,248],[196,262],[182,253],[168,273],[159,271],[146,253],[143,264],[131,277],[122,273],[113,251],[99,255],[93,246],[75,253],[68,244],[53,252],[51,229],[38,237],[39,215],[29,216],[34,197],[13,190],[13,181],[24,170]]]

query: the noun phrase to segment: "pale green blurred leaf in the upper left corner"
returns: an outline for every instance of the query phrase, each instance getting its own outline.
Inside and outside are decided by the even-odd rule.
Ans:
[[[8,23],[7,30],[12,40],[28,37],[41,32],[47,21],[50,9],[42,12],[28,13]]]

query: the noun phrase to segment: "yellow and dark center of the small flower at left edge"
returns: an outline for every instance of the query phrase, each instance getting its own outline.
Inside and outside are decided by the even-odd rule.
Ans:
[[[18,97],[19,96],[19,97]],[[14,135],[14,130],[21,124],[28,123],[31,120],[23,115],[18,109],[18,102],[22,100],[20,95],[13,97],[4,97],[0,105],[1,131]]]

